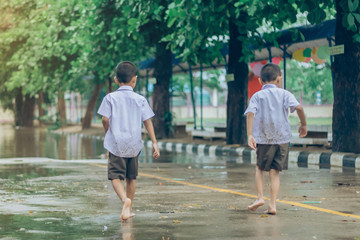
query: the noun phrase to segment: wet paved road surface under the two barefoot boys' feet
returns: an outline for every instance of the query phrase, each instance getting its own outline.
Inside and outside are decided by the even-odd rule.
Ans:
[[[0,239],[360,239],[354,171],[290,166],[281,173],[278,214],[271,216],[262,212],[266,205],[246,209],[256,194],[253,165],[166,152],[155,161],[144,149],[136,217],[121,223],[106,160],[24,155],[9,151],[12,158],[0,159]]]

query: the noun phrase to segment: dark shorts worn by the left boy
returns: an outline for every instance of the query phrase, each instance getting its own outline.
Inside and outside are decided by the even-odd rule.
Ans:
[[[140,154],[139,154],[140,155]],[[123,158],[109,153],[108,179],[136,179],[138,175],[139,155],[132,158]]]

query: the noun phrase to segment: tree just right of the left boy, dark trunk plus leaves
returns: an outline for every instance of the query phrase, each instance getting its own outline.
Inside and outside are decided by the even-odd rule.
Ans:
[[[171,135],[170,113],[170,79],[172,76],[172,52],[167,48],[168,42],[161,41],[170,29],[165,20],[165,12],[170,0],[130,0],[120,1],[123,4],[123,14],[129,16],[129,31],[135,41],[143,40],[148,53],[155,55],[154,77],[156,84],[153,91],[153,109],[156,117],[153,119],[158,138]]]

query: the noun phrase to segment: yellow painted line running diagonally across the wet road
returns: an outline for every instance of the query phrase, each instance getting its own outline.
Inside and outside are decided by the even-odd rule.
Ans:
[[[89,163],[89,164],[93,165],[93,166],[97,166],[97,167],[106,168],[106,165],[102,165],[102,164],[97,164],[97,163]],[[160,176],[156,176],[156,175],[152,175],[152,174],[148,174],[148,173],[139,173],[139,175],[142,176],[142,177],[148,177],[148,178],[158,179],[158,180],[162,180],[162,181],[168,181],[168,182],[177,183],[177,184],[186,185],[186,186],[191,186],[191,187],[196,187],[196,188],[208,189],[208,190],[212,190],[212,191],[216,191],[216,192],[230,193],[230,194],[239,195],[239,196],[243,196],[243,197],[257,198],[257,196],[253,195],[253,194],[242,193],[242,192],[233,191],[233,190],[229,190],[229,189],[223,189],[223,188],[210,187],[210,186],[205,186],[205,185],[200,185],[200,184],[194,184],[194,183],[189,183],[189,182],[184,182],[184,181],[178,181],[178,180],[173,180],[173,179],[170,179],[170,178],[160,177]],[[265,198],[265,199],[268,200],[269,198]],[[303,203],[299,203],[299,202],[286,201],[286,200],[277,200],[277,202],[285,203],[285,204],[293,205],[293,206],[297,206],[297,207],[307,208],[307,209],[311,209],[311,210],[315,210],[315,211],[319,211],[319,212],[339,215],[339,216],[343,216],[343,217],[350,217],[350,218],[358,218],[358,219],[360,219],[359,215],[349,214],[349,213],[342,213],[342,212],[339,212],[339,211],[334,211],[334,210],[330,210],[330,209],[326,209],[326,208],[315,207],[315,206],[311,206],[311,205],[303,204]]]

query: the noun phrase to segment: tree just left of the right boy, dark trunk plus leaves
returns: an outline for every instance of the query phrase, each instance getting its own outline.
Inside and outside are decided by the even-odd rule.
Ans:
[[[243,112],[247,101],[248,67],[244,58],[247,38],[248,1],[174,1],[167,12],[168,25],[174,28],[164,40],[171,49],[190,64],[222,61],[221,49],[229,45],[227,72],[233,76],[228,83],[227,143],[246,142]],[[229,36],[229,40],[226,39]]]

